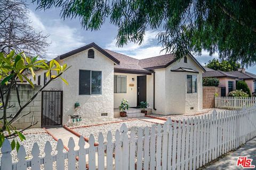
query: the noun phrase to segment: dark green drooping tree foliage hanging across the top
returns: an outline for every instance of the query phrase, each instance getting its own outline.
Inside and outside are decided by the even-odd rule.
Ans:
[[[202,49],[220,58],[256,62],[256,1],[230,0],[33,0],[38,8],[61,9],[61,17],[79,18],[86,30],[99,30],[107,20],[118,27],[117,45],[141,44],[147,29],[159,30],[167,53],[181,58]]]

